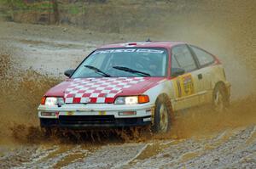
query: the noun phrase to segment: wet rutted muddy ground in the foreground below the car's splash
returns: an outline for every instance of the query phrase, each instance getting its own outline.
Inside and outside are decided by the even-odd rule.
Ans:
[[[46,142],[15,149],[1,147],[1,152],[1,168],[255,168],[256,127],[224,130],[205,138],[108,144]]]

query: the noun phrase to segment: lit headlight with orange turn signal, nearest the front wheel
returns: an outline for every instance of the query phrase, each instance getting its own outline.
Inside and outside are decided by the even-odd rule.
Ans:
[[[148,96],[141,95],[141,96],[118,97],[117,99],[115,99],[114,104],[144,104],[148,102],[149,102]]]

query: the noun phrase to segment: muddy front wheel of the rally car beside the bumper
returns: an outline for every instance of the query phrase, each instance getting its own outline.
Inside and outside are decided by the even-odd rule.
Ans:
[[[152,131],[166,133],[171,129],[172,104],[166,95],[160,95],[155,102],[154,125]]]

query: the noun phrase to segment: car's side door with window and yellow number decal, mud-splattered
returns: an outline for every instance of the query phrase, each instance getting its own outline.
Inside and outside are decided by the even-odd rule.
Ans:
[[[183,75],[173,77],[175,90],[173,100],[175,110],[183,110],[195,106],[198,102],[197,74],[198,65],[187,45],[177,45],[172,48],[172,70],[183,69]]]

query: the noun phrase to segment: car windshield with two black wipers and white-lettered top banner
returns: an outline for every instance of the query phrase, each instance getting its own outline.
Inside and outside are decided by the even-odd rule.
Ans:
[[[167,58],[164,48],[100,49],[84,59],[72,78],[166,76]]]

